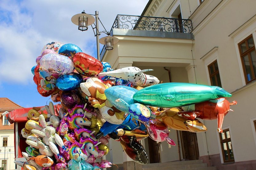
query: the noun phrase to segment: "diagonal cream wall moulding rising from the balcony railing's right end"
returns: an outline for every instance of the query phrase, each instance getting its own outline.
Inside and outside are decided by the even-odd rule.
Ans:
[[[197,26],[192,33],[196,35],[200,32],[228,3],[230,0],[221,1]]]

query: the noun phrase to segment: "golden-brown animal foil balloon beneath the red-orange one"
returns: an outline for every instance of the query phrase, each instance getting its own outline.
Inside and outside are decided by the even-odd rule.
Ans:
[[[162,120],[162,122],[169,128],[175,130],[184,130],[190,132],[203,132],[207,130],[204,124],[198,119],[188,120],[178,113],[182,111],[179,108],[168,108],[162,112],[161,115],[156,116],[156,119]]]

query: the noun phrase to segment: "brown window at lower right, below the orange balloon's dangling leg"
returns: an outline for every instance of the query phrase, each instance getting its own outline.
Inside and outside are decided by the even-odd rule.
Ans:
[[[223,133],[219,134],[219,138],[220,138],[223,162],[224,163],[235,162],[229,129],[223,130]]]

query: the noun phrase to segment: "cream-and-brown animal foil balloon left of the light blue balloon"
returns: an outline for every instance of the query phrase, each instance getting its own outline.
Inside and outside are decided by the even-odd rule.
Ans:
[[[105,85],[98,77],[88,78],[80,84],[83,93],[88,96],[89,102],[95,108],[99,108],[101,117],[113,124],[121,124],[124,120],[124,112],[116,109],[105,96],[104,91],[110,85]]]

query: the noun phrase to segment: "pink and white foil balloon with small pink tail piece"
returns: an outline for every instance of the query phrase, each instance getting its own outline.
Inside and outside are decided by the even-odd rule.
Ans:
[[[176,144],[169,136],[169,129],[160,120],[153,119],[149,121],[147,126],[148,134],[151,139],[157,142],[167,141],[170,145],[175,146]]]

